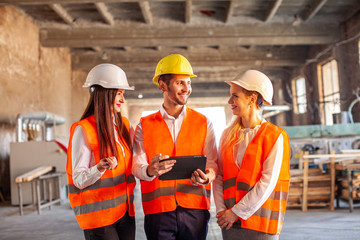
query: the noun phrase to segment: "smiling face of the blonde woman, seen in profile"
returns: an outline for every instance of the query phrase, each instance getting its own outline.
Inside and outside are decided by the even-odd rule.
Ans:
[[[228,103],[234,115],[244,117],[250,114],[252,95],[249,96],[242,87],[231,84]]]

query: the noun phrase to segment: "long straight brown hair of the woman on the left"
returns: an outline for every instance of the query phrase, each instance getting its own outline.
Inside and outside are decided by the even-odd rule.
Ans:
[[[114,120],[120,141],[123,141],[132,151],[130,133],[122,121],[121,113],[115,112],[113,107],[117,91],[118,89],[103,88],[95,85],[89,103],[80,119],[82,120],[91,115],[95,116],[100,158],[118,155],[112,115],[115,117]]]

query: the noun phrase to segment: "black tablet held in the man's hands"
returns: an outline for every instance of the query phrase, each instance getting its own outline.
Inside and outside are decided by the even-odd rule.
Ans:
[[[160,162],[167,160],[176,160],[176,163],[169,172],[159,176],[160,180],[190,179],[196,169],[205,172],[206,156],[204,155],[169,157]]]

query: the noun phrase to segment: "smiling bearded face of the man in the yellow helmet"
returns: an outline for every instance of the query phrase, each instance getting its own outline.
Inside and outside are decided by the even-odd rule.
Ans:
[[[169,85],[163,81],[160,81],[159,84],[164,92],[165,101],[171,105],[185,105],[192,91],[188,75],[174,74]]]

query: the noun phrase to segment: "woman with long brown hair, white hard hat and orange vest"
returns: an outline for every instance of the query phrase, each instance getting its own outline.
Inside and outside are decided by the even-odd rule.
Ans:
[[[131,174],[133,129],[121,116],[125,72],[100,64],[89,72],[89,103],[72,125],[67,158],[69,200],[85,239],[135,239]]]

